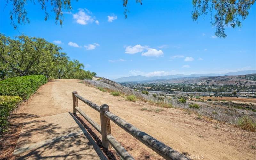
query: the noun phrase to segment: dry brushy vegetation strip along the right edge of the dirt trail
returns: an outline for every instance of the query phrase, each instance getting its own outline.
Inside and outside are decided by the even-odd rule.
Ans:
[[[144,101],[150,104],[163,107],[163,108],[177,108],[184,110],[189,115],[196,114],[199,118],[205,117],[206,119],[215,119],[221,123],[232,124],[237,127],[256,132],[256,123],[254,121],[247,121],[250,119],[243,113],[239,113],[236,109],[226,109],[216,105],[201,106],[197,103],[189,103],[186,97],[166,97],[156,94],[143,94],[141,91],[136,91],[124,87],[114,81],[100,78],[96,81],[85,80],[85,83],[96,86],[102,92],[120,92],[125,100],[129,101]],[[252,113],[251,116],[254,114]]]

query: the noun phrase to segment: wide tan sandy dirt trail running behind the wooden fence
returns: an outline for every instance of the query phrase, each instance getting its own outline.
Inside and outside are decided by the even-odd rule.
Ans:
[[[196,115],[189,115],[179,109],[159,108],[139,101],[125,101],[123,97],[112,96],[109,93],[99,91],[95,87],[79,82],[80,80],[62,79],[44,84],[36,94],[22,104],[15,113],[15,115],[18,115],[15,117],[15,121],[19,120],[21,123],[24,117],[36,119],[42,116],[73,112],[72,92],[77,91],[79,95],[99,106],[108,104],[110,111],[117,116],[180,153],[190,155],[191,159],[256,159],[256,149],[252,148],[252,146],[256,146],[255,132],[224,124],[218,124],[219,127],[215,127],[215,123],[204,119],[196,119]],[[98,112],[81,101],[78,101],[78,103],[80,109],[100,124],[100,114]],[[145,108],[148,110],[145,110]],[[154,112],[156,109],[162,110]],[[24,113],[29,113],[30,117],[24,115]],[[100,145],[100,134],[81,115],[78,114],[78,116],[78,120],[81,118],[80,120],[85,122],[84,127],[96,143]],[[114,123],[111,123],[111,131],[116,140],[135,159],[162,159],[161,156],[158,156]],[[16,134],[19,135],[19,132]],[[10,139],[12,136],[8,138]],[[8,138],[4,140],[8,141]],[[5,148],[6,150],[8,148]],[[9,148],[8,154],[12,154],[13,150]],[[104,153],[112,155],[107,156],[110,157],[109,159],[119,159],[113,149]]]

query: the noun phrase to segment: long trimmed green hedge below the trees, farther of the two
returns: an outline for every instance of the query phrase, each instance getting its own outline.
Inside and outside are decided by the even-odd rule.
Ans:
[[[47,78],[44,75],[8,78],[0,81],[0,95],[20,96],[26,100],[46,82]]]

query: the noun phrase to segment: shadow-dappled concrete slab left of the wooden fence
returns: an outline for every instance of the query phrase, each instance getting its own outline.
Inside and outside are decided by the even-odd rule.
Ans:
[[[58,121],[65,123],[65,117],[56,119],[53,123],[41,118],[26,121],[13,153],[15,159],[95,159],[95,152],[92,152],[92,149],[96,151],[97,158],[107,159],[90,134],[71,113],[69,114],[83,132],[77,126],[63,128]],[[22,116],[26,114],[17,115],[19,118],[23,118]],[[83,134],[87,139],[82,136]]]

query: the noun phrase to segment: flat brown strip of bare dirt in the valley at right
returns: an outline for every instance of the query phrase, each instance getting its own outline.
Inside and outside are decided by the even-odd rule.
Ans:
[[[256,98],[245,98],[245,97],[209,97],[209,96],[205,96],[205,97],[200,97],[201,99],[207,100],[207,99],[212,99],[214,101],[222,101],[222,100],[226,100],[226,101],[236,101],[236,102],[253,102],[256,103]],[[191,98],[191,100],[199,100],[196,98]]]

